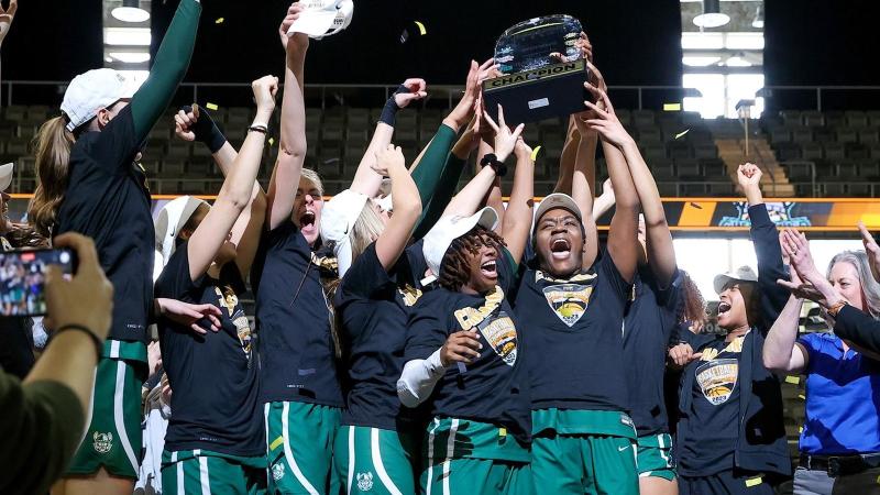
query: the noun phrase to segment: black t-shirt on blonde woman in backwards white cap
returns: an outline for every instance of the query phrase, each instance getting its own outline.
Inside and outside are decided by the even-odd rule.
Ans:
[[[386,272],[374,242],[345,272],[334,300],[348,364],[343,425],[395,430],[403,421],[417,428],[416,414],[397,398],[397,380],[404,369],[408,309],[421,296],[426,267],[418,242]]]

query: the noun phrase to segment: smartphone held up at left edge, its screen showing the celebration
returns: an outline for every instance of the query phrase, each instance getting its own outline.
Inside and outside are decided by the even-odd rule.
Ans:
[[[46,268],[57,265],[65,275],[76,273],[70,250],[20,250],[0,252],[0,317],[46,314]]]

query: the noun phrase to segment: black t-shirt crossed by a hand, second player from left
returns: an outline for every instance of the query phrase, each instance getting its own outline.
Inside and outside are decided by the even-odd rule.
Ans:
[[[205,449],[231,455],[265,455],[263,411],[257,400],[256,360],[251,328],[238,295],[244,280],[234,263],[220,279],[189,277],[184,243],[156,280],[156,297],[220,308],[222,328],[196,334],[189,327],[158,322],[162,364],[172,387],[172,417],[165,435],[168,451]]]

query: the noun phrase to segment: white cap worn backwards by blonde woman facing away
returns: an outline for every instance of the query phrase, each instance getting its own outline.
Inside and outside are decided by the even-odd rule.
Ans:
[[[364,194],[345,189],[327,201],[321,210],[321,240],[324,243],[333,243],[340,277],[345,275],[351,266],[349,233],[354,229],[354,223],[361,217],[367,199]]]

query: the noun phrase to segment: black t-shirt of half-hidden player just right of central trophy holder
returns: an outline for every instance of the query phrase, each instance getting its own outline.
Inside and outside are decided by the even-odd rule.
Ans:
[[[669,432],[663,391],[666,358],[679,304],[676,274],[660,288],[650,267],[639,267],[635,299],[624,317],[624,353],[629,388],[629,409],[638,435]]]

